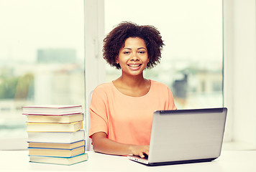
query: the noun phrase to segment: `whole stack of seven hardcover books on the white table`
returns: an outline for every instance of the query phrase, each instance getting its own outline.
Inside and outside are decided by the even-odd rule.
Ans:
[[[24,106],[29,162],[72,165],[88,160],[81,105]]]

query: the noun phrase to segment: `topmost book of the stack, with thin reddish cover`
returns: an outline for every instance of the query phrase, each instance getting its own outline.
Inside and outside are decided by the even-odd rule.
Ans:
[[[70,115],[82,113],[81,105],[32,105],[23,106],[23,115]]]

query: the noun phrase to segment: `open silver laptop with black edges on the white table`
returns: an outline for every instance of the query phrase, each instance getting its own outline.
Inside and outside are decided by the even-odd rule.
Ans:
[[[128,158],[148,166],[213,161],[221,154],[226,117],[227,108],[157,110],[149,156]]]

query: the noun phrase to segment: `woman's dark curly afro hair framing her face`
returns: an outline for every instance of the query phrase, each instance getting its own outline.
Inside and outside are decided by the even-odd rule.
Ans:
[[[163,49],[163,39],[160,32],[152,26],[139,26],[132,22],[122,22],[118,24],[104,39],[103,57],[109,65],[121,69],[116,63],[119,50],[124,47],[124,42],[129,37],[140,37],[144,39],[150,62],[147,69],[155,67],[160,63],[161,51]]]

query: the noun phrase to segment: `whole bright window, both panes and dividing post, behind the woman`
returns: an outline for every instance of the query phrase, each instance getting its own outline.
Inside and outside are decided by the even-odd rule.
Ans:
[[[86,93],[119,77],[101,47],[122,21],[160,30],[163,57],[145,77],[168,85],[179,109],[223,105],[220,0],[9,0],[0,21],[0,139],[26,135],[23,105],[88,105]]]

